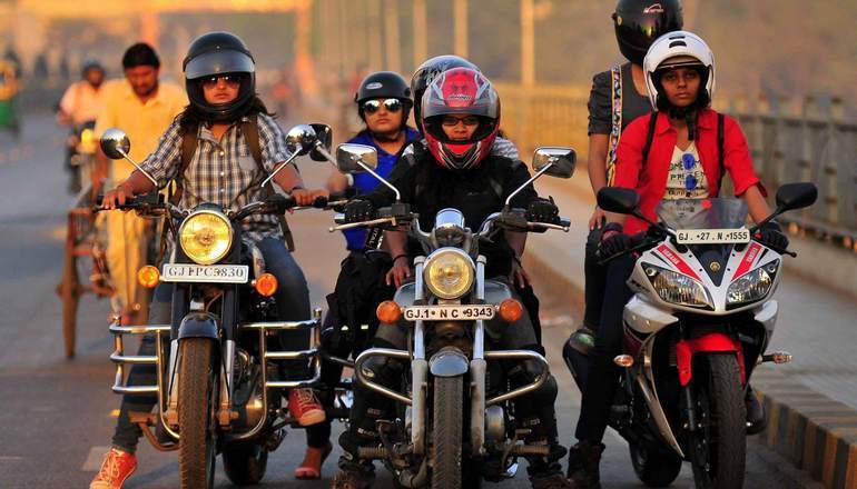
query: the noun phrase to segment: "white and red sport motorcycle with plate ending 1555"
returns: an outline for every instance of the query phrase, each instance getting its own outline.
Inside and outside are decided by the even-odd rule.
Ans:
[[[632,214],[650,228],[628,253],[639,253],[623,310],[623,368],[610,426],[628,440],[638,478],[670,485],[691,463],[698,488],[743,485],[747,378],[758,362],[785,363],[787,352],[766,353],[777,320],[774,291],[782,256],[796,253],[759,242],[756,231],[782,212],[811,206],[817,189],[790,183],[777,192],[777,208],[748,229],[740,199],[664,200],[652,222],[639,210],[639,194],[604,188],[601,209]],[[563,350],[581,391],[588,356]]]

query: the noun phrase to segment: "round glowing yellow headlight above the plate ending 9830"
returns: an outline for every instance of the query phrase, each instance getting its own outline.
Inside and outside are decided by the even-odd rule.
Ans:
[[[190,214],[178,229],[181,250],[199,265],[211,265],[229,252],[233,227],[226,216],[210,210]]]

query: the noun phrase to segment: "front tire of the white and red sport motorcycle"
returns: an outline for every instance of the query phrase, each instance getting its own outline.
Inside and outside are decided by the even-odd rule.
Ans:
[[[701,489],[743,487],[747,413],[733,353],[698,357],[692,389],[700,427],[690,433],[693,481]]]

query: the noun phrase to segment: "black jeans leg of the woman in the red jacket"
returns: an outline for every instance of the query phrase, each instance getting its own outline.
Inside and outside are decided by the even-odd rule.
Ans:
[[[595,347],[589,356],[589,377],[583,389],[580,418],[574,432],[581,441],[601,442],[610,420],[610,407],[620,375],[613,358],[622,349],[622,311],[633,296],[625,281],[631,276],[636,261],[633,256],[624,256],[607,266],[600,325]]]

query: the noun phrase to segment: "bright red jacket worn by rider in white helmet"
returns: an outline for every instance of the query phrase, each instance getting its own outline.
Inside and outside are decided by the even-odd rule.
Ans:
[[[649,219],[657,221],[654,208],[663,198],[667,190],[667,177],[669,174],[672,151],[676,148],[678,133],[670,126],[666,113],[658,113],[654,123],[654,134],[649,160],[642,162],[642,150],[646,146],[646,137],[649,132],[651,114],[642,116],[631,122],[619,140],[617,148],[615,177],[613,187],[634,189],[640,194],[640,209]],[[708,180],[708,192],[717,196],[720,180],[717,150],[717,112],[703,109],[699,113],[697,122],[697,151],[702,170]],[[723,118],[723,167],[729,172],[735,187],[735,194],[741,196],[752,186],[759,186],[762,194],[767,194],[759,177],[752,168],[747,139],[743,137],[738,122],[730,117]],[[628,217],[624,232],[632,234],[646,230],[649,227],[644,221]]]

